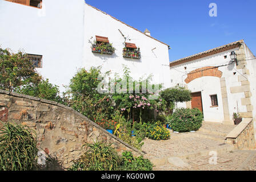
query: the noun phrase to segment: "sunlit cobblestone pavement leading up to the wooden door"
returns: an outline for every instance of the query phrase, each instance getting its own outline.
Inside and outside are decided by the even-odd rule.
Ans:
[[[203,122],[201,130],[195,133],[176,134],[170,131],[169,140],[145,139],[142,151],[145,152],[145,158],[155,164],[153,169],[157,171],[256,170],[256,151],[235,150],[233,146],[226,144],[225,140],[218,138],[218,135],[223,138],[234,127]],[[211,138],[207,138],[207,135]],[[209,155],[211,151],[217,152],[217,164],[210,164],[210,161],[214,162],[213,155]],[[172,157],[178,157],[178,165],[175,164],[175,160],[174,163],[173,160],[169,162],[169,158]],[[181,167],[179,164],[184,165]]]

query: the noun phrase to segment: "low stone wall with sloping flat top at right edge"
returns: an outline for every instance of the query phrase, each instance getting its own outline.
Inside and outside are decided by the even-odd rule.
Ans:
[[[239,150],[254,150],[256,148],[254,137],[253,118],[243,118],[226,137],[227,143],[233,144]]]

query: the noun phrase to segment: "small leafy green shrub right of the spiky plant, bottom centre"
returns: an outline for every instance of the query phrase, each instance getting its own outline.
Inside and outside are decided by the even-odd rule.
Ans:
[[[143,156],[134,158],[131,152],[125,151],[122,154],[123,167],[122,170],[127,171],[151,171],[153,164],[149,159],[144,159]]]

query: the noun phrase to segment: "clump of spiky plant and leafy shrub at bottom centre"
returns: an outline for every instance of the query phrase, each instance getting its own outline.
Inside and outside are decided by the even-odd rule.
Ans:
[[[135,157],[125,151],[119,156],[111,144],[96,142],[87,144],[89,150],[75,160],[70,171],[150,171],[153,164],[143,156]]]

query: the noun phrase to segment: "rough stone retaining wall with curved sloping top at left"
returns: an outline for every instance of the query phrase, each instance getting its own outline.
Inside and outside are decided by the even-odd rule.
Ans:
[[[135,156],[142,155],[71,107],[54,101],[0,90],[0,121],[22,123],[34,129],[38,147],[65,168],[86,151],[83,144],[96,140],[113,143],[119,154],[131,151]]]

